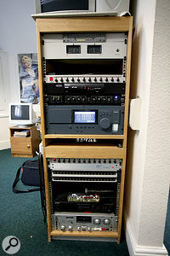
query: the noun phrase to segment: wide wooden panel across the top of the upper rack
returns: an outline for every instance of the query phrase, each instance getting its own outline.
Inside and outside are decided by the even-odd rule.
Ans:
[[[37,18],[39,32],[127,32],[132,17]]]

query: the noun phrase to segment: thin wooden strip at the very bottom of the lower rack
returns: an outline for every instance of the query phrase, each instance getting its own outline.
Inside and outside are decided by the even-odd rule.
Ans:
[[[52,230],[50,233],[50,236],[101,236],[101,237],[118,237],[117,232],[102,232],[102,231],[94,231],[94,232],[88,232],[88,231],[60,231],[60,230]]]

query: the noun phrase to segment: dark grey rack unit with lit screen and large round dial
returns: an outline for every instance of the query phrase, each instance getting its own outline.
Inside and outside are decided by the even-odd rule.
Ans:
[[[47,134],[123,134],[123,106],[45,106]]]

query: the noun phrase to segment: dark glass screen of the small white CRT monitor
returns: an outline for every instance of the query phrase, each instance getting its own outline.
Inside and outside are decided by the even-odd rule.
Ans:
[[[12,120],[27,120],[29,119],[29,106],[14,105],[11,106]]]

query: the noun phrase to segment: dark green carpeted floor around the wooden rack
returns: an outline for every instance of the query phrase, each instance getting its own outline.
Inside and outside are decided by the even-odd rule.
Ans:
[[[128,256],[127,244],[122,238],[116,242],[52,241],[48,242],[46,224],[42,220],[39,192],[14,194],[12,184],[17,169],[26,158],[13,158],[10,149],[0,151],[0,238],[16,236],[20,240],[17,256]],[[19,184],[19,187],[21,184]],[[0,255],[7,255],[0,248]]]

